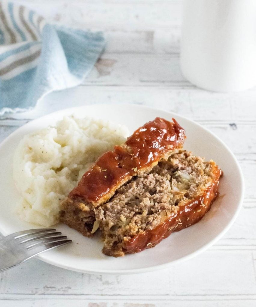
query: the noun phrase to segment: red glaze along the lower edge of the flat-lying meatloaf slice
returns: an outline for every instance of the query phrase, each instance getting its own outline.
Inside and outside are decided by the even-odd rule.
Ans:
[[[218,184],[221,175],[222,171],[217,168],[213,184],[200,197],[180,206],[176,215],[170,216],[164,223],[154,229],[145,231],[126,241],[123,251],[133,254],[143,251],[146,248],[154,247],[172,232],[182,230],[201,220],[210,210],[211,204],[218,195]]]

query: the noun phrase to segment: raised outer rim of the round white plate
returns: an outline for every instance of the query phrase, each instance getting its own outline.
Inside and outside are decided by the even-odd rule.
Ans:
[[[163,108],[158,108],[158,107],[152,107],[152,106],[147,106],[147,105],[140,105],[140,104],[135,104],[135,103],[95,103],[95,104],[88,104],[88,105],[84,105],[84,106],[78,106],[78,107],[71,107],[71,108],[65,108],[65,109],[60,109],[58,111],[54,111],[51,113],[48,113],[46,115],[40,116],[38,118],[32,119],[29,122],[27,122],[26,124],[18,127],[18,129],[16,129],[15,131],[13,131],[11,134],[9,134],[1,143],[0,143],[0,147],[4,146],[4,144],[6,142],[9,141],[10,138],[12,138],[15,134],[19,133],[19,130],[24,129],[24,126],[30,126],[33,125],[33,123],[37,120],[42,120],[48,116],[53,116],[54,114],[59,114],[60,112],[70,112],[70,114],[72,114],[72,112],[78,110],[78,109],[86,109],[87,107],[101,107],[101,106],[125,106],[125,107],[135,107],[138,109],[150,109],[150,110],[155,110],[155,111],[163,111],[166,113],[169,113],[169,115],[171,115],[172,117],[179,117],[184,119],[185,121],[189,121],[190,123],[192,123],[193,125],[196,125],[198,128],[205,130],[207,133],[209,133],[211,136],[213,136],[214,138],[216,138],[218,140],[218,142],[221,143],[221,145],[223,147],[225,147],[225,149],[229,152],[229,154],[233,157],[233,160],[237,166],[239,175],[240,175],[240,179],[241,179],[241,186],[240,186],[240,190],[241,190],[241,196],[240,199],[238,200],[238,206],[237,209],[234,213],[234,215],[232,216],[232,218],[230,219],[229,223],[226,225],[226,227],[224,227],[224,229],[218,234],[216,235],[212,240],[210,240],[208,243],[206,243],[204,246],[202,246],[201,248],[199,248],[198,250],[190,253],[189,255],[185,255],[181,258],[178,258],[176,260],[173,260],[171,262],[166,262],[166,263],[162,263],[162,264],[158,264],[158,265],[154,265],[154,266],[149,266],[149,267],[145,267],[145,268],[136,268],[136,269],[122,269],[122,270],[108,270],[108,269],[93,269],[93,270],[88,270],[88,269],[78,269],[78,268],[74,268],[74,267],[70,267],[70,266],[66,266],[66,265],[62,265],[62,264],[58,264],[55,261],[51,261],[48,258],[44,257],[44,253],[35,256],[36,258],[38,258],[39,260],[46,262],[48,264],[66,269],[66,270],[72,270],[72,271],[76,271],[76,272],[81,272],[81,273],[88,273],[88,274],[138,274],[138,273],[146,273],[146,272],[150,272],[150,271],[156,271],[156,270],[163,270],[166,269],[174,264],[177,263],[181,263],[184,261],[187,261],[191,258],[194,258],[196,255],[201,254],[203,251],[205,251],[206,249],[208,249],[210,246],[212,246],[215,242],[217,242],[232,226],[232,224],[234,223],[234,221],[236,220],[241,208],[242,208],[242,203],[243,203],[243,199],[244,199],[244,192],[245,192],[245,182],[244,182],[244,176],[242,173],[242,169],[241,166],[237,160],[237,158],[235,157],[234,153],[230,150],[230,148],[225,144],[225,142],[223,142],[216,134],[214,134],[213,132],[211,132],[208,128],[202,126],[201,124],[199,124],[198,122],[187,118],[186,116],[180,115],[178,113],[172,112],[172,111],[166,111]],[[54,226],[54,225],[53,225]],[[41,227],[41,226],[40,226]],[[44,227],[42,227],[44,228]],[[47,227],[46,227],[47,228]],[[2,235],[6,236],[6,232],[2,229],[2,226],[0,224],[0,232],[2,233]]]

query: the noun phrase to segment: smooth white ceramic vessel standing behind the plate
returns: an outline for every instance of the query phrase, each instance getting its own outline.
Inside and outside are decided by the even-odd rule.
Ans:
[[[256,86],[256,0],[185,0],[181,69],[212,91]]]

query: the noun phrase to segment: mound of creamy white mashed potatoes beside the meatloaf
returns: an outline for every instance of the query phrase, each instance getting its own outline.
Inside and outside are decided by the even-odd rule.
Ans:
[[[26,135],[14,156],[22,219],[46,227],[58,223],[60,202],[94,161],[127,135],[125,126],[74,116]]]

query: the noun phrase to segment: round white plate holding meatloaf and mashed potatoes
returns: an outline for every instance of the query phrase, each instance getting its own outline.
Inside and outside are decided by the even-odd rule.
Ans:
[[[63,224],[54,226],[73,242],[38,256],[42,261],[65,269],[86,273],[128,274],[163,269],[198,255],[214,244],[231,226],[242,205],[244,182],[241,169],[233,153],[209,130],[180,115],[138,105],[90,105],[58,111],[36,119],[12,133],[0,146],[0,231],[3,235],[38,228],[23,222],[14,213],[20,195],[12,177],[13,152],[24,134],[54,124],[63,115],[92,116],[122,123],[132,133],[145,122],[156,116],[177,119],[186,129],[185,148],[196,155],[213,159],[224,171],[219,185],[220,197],[209,213],[197,224],[173,233],[152,249],[125,257],[113,258],[101,253],[100,235],[93,239]]]

